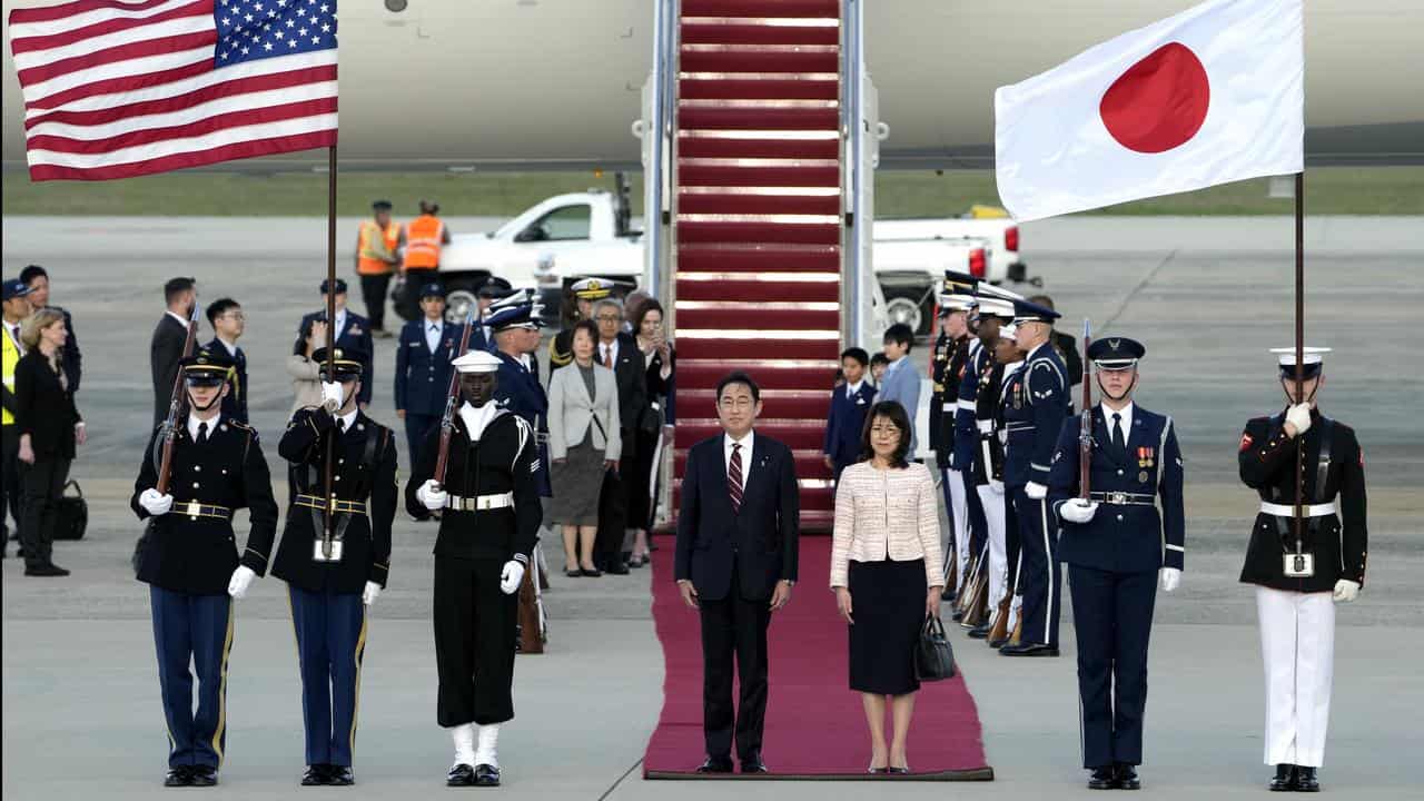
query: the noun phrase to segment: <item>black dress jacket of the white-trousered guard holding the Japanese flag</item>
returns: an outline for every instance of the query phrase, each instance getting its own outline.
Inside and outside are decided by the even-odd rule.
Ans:
[[[1284,412],[1273,418],[1256,418],[1242,433],[1242,482],[1260,493],[1266,503],[1293,506],[1296,493],[1296,443],[1286,436]],[[1354,429],[1310,410],[1310,429],[1304,435],[1307,505],[1337,503],[1337,515],[1306,517],[1302,542],[1306,553],[1314,554],[1314,576],[1287,579],[1282,554],[1294,553],[1296,540],[1290,515],[1256,515],[1250,546],[1240,580],[1277,590],[1327,593],[1340,579],[1364,584],[1366,567],[1366,495],[1364,452]],[[1329,439],[1329,448],[1324,448]]]

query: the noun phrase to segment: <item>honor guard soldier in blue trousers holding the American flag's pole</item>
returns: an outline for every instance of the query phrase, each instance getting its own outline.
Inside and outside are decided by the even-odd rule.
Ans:
[[[272,574],[292,600],[306,728],[302,784],[349,785],[366,613],[390,573],[396,442],[356,405],[362,362],[337,348],[328,373],[325,348],[312,359],[320,365],[322,406],[298,409],[276,446],[296,493]]]

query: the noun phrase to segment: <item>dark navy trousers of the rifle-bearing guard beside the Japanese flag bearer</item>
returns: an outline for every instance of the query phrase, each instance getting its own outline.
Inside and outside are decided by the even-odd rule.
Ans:
[[[1148,704],[1148,637],[1156,601],[1156,570],[1111,573],[1068,566],[1078,634],[1078,697],[1082,703],[1082,767],[1142,764],[1142,715]]]

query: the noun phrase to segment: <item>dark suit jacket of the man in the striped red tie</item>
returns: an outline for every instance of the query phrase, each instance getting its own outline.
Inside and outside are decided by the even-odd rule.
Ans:
[[[705,439],[688,453],[674,574],[679,582],[692,580],[698,596],[716,601],[731,593],[735,566],[743,599],[769,599],[776,582],[796,580],[800,533],[796,462],[789,448],[753,433],[742,507],[732,512],[723,436]]]

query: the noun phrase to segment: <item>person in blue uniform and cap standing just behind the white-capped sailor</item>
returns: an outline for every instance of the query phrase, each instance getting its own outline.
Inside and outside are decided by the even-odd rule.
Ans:
[[[444,289],[439,284],[420,289],[420,319],[402,326],[396,348],[396,416],[406,420],[412,465],[420,460],[426,432],[444,415],[453,372],[450,362],[460,356],[464,334],[464,326],[444,321]],[[473,334],[470,349],[483,349],[476,346]]]

